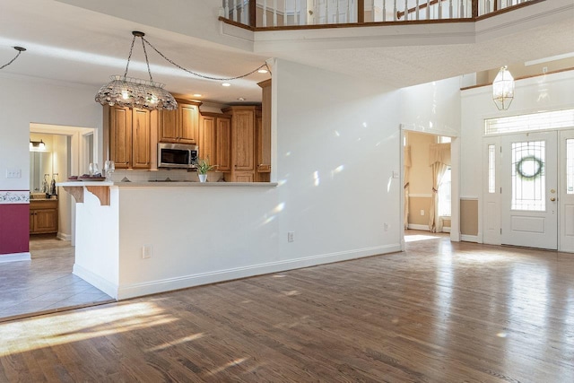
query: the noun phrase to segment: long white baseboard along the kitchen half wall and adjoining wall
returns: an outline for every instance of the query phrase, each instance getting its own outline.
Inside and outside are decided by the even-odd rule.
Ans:
[[[352,251],[341,251],[337,253],[322,254],[312,257],[301,257],[298,259],[290,259],[288,261],[270,262],[260,265],[248,265],[245,267],[236,267],[227,270],[217,270],[210,273],[190,274],[175,278],[166,278],[147,283],[126,284],[119,286],[117,289],[117,297],[115,298],[117,298],[117,300],[126,300],[129,298],[156,294],[159,292],[170,292],[173,290],[186,289],[188,287],[200,286],[202,284],[230,281],[255,275],[279,273],[303,267],[324,265],[361,257],[371,257],[379,254],[393,253],[397,251],[401,251],[400,244],[393,244],[376,248],[363,248],[360,250]],[[90,281],[87,282],[91,283]],[[94,284],[94,286],[98,287],[96,284]],[[98,288],[100,289],[100,287]],[[103,289],[100,290],[104,291]],[[106,293],[110,296],[114,296],[109,292]]]

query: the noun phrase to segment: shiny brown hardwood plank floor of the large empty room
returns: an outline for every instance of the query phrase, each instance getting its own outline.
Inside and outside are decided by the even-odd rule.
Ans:
[[[572,382],[574,255],[450,243],[0,323],[0,381]]]

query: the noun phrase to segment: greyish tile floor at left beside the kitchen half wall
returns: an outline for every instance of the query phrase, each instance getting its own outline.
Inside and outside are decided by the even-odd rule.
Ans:
[[[115,301],[72,274],[70,241],[34,236],[30,253],[31,261],[0,264],[0,322]]]

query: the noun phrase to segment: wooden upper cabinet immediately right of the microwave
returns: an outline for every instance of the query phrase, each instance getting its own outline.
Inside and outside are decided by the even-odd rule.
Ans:
[[[215,171],[230,170],[230,126],[229,116],[221,113],[202,113],[199,124],[199,158],[209,158],[217,165]]]

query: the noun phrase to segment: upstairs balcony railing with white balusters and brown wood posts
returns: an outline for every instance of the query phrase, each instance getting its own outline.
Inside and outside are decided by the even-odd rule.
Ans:
[[[222,0],[222,17],[252,30],[475,21],[545,0]]]

